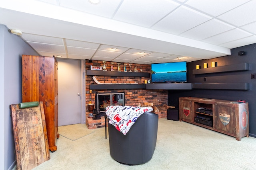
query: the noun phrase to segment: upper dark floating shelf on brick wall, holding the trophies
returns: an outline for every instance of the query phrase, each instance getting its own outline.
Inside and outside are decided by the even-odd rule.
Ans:
[[[100,71],[87,70],[88,76],[132,76],[132,77],[150,77],[148,72],[122,72],[122,71]]]

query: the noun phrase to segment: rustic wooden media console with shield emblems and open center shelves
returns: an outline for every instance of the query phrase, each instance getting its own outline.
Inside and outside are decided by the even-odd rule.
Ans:
[[[184,97],[179,98],[180,121],[186,121],[236,140],[249,137],[248,103],[227,100]]]

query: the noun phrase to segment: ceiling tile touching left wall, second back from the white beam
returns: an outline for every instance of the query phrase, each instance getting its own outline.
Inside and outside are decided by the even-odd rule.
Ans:
[[[63,45],[53,45],[44,43],[28,42],[36,51],[65,53],[65,47]]]

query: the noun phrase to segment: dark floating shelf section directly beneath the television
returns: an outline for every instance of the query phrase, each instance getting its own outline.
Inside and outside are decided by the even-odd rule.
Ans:
[[[148,83],[146,89],[159,90],[191,90],[191,83]]]

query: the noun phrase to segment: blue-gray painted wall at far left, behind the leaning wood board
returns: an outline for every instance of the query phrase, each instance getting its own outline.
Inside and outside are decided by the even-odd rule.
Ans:
[[[0,25],[0,169],[15,166],[15,148],[10,104],[22,102],[22,55],[38,55],[18,35]]]

